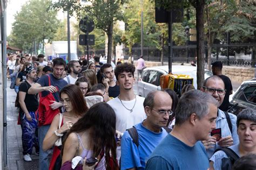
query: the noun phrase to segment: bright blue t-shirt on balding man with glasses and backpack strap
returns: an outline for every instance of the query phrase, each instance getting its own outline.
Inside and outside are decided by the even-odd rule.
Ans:
[[[152,132],[142,123],[135,125],[135,128],[139,136],[139,148],[133,143],[129,132],[124,132],[121,143],[121,169],[145,169],[150,154],[168,134],[163,128],[159,133]]]

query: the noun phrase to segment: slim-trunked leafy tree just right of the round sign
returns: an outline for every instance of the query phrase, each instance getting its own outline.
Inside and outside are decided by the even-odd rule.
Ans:
[[[113,41],[113,23],[116,20],[122,20],[120,5],[121,0],[90,0],[91,5],[82,5],[78,1],[59,0],[52,5],[53,9],[69,10],[70,14],[76,16],[87,16],[95,22],[95,26],[107,34],[107,62],[111,62],[112,41]]]

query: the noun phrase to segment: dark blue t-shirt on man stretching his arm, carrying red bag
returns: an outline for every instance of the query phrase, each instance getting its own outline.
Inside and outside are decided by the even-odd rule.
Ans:
[[[53,93],[53,96],[56,102],[59,102],[60,101],[59,91],[68,83],[63,79],[57,79],[55,76],[53,76],[52,73],[48,75],[50,76],[51,86],[55,86],[58,88],[58,91],[56,93]],[[42,87],[49,86],[48,76],[43,75],[42,77],[40,77],[37,83],[39,83]],[[50,93],[49,91],[42,91],[42,97],[48,95],[49,93]]]

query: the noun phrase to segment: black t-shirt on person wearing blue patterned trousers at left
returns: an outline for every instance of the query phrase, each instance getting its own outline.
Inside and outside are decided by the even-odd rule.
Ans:
[[[28,90],[30,87],[30,84],[27,81],[24,81],[21,83],[21,85],[19,85],[19,91],[23,91],[26,93],[24,100],[26,104],[26,109],[28,109],[28,111],[36,111],[38,108],[37,95],[28,94]]]

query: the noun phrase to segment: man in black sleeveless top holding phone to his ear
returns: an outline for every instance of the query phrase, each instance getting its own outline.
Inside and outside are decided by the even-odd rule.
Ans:
[[[99,74],[99,73],[98,73]],[[119,86],[117,85],[116,81],[114,80],[114,70],[110,63],[105,63],[100,67],[100,74],[102,82],[106,87],[106,91],[109,94],[109,97],[117,97],[120,94]]]

